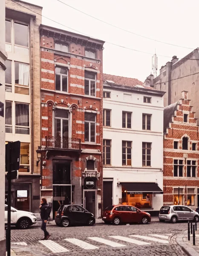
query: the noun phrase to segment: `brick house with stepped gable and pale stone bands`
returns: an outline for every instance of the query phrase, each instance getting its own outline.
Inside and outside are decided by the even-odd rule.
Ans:
[[[164,205],[199,205],[199,131],[187,91],[164,108]]]

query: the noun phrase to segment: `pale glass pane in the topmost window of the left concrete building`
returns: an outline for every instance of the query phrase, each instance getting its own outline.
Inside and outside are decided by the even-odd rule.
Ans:
[[[14,23],[14,44],[28,47],[28,26]]]

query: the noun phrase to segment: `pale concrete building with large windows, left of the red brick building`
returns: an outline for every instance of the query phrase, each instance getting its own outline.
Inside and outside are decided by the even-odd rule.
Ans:
[[[34,4],[6,0],[6,142],[21,142],[19,178],[12,181],[12,206],[32,212],[39,212],[40,204],[36,149],[40,143],[41,11],[42,7]]]

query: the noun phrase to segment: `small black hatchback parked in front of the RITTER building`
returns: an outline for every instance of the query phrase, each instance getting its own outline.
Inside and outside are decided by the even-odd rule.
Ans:
[[[77,204],[61,205],[55,216],[55,223],[58,226],[69,227],[70,225],[95,224],[95,217],[91,212]]]

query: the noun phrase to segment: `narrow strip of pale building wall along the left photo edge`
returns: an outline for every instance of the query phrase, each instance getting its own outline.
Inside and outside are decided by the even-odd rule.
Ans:
[[[5,0],[0,1],[0,219],[3,220],[5,203],[5,61],[7,58],[5,44]],[[2,116],[3,115],[3,116]],[[4,221],[0,221],[0,256],[6,255]]]

